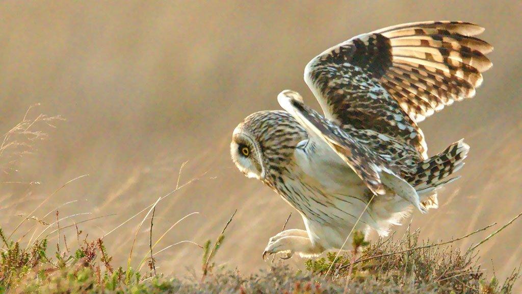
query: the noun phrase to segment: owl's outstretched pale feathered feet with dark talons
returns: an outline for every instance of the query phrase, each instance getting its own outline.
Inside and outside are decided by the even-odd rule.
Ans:
[[[286,253],[283,259],[292,257],[294,253],[299,255],[318,255],[324,251],[324,248],[318,245],[312,244],[308,237],[301,236],[284,236],[277,241],[268,243],[263,252],[263,259],[267,254]]]

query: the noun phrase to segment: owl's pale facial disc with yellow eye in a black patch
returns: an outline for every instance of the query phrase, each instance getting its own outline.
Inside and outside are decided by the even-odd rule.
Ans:
[[[240,123],[232,134],[230,143],[230,155],[232,161],[239,170],[249,178],[263,179],[265,172],[260,153],[259,144],[254,140],[254,136],[243,128]]]

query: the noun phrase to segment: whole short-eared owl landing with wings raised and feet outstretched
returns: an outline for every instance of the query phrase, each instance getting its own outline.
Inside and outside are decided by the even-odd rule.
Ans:
[[[304,80],[324,115],[293,91],[286,110],[260,111],[232,135],[234,163],[274,189],[305,230],[272,237],[264,255],[317,255],[355,230],[386,235],[413,206],[437,207],[436,191],[456,177],[469,146],[460,140],[428,157],[417,123],[472,97],[493,47],[483,28],[461,21],[398,25],[359,35],[316,56]],[[348,243],[350,244],[350,243]]]

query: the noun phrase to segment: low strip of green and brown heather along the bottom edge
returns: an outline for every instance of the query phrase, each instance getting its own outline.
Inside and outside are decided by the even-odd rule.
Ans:
[[[230,218],[229,222],[232,221]],[[228,224],[227,223],[227,224]],[[227,226],[227,225],[226,225]],[[36,241],[28,249],[8,240],[0,230],[6,250],[0,262],[0,293],[512,293],[518,270],[502,283],[484,273],[473,248],[461,252],[450,244],[419,240],[419,231],[402,238],[391,236],[374,244],[356,232],[351,254],[336,258],[309,259],[305,270],[282,264],[244,276],[238,270],[216,266],[213,257],[223,246],[226,228],[201,251],[202,273],[192,277],[157,274],[153,257],[143,272],[116,267],[103,240],[87,240],[78,231],[81,244],[72,250],[56,244],[48,255],[48,240]],[[457,241],[455,241],[457,242]],[[328,270],[330,274],[327,275]]]

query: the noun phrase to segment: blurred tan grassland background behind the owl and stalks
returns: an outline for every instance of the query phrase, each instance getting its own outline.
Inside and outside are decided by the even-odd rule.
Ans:
[[[229,158],[233,128],[248,114],[278,109],[286,88],[317,106],[302,80],[313,56],[359,33],[402,22],[465,20],[486,28],[493,68],[473,99],[421,123],[435,154],[465,138],[462,176],[440,193],[441,208],[413,214],[422,237],[449,240],[522,211],[522,46],[520,1],[137,2],[4,1],[0,4],[0,128],[26,109],[61,115],[50,139],[0,175],[0,223],[7,232],[68,180],[37,215],[68,201],[64,221],[117,213],[79,225],[101,236],[176,187],[158,205],[155,234],[198,211],[162,240],[204,243],[234,209],[218,262],[244,272],[267,267],[261,253],[292,209],[269,188],[247,180]],[[40,185],[29,183],[38,181]],[[47,221],[53,221],[50,214]],[[116,263],[128,256],[139,217],[106,237]],[[406,221],[408,222],[408,220]],[[28,227],[34,225],[28,221]],[[405,227],[405,226],[404,226]],[[399,233],[404,232],[399,227]],[[287,228],[303,228],[297,213]],[[43,227],[42,227],[43,229]],[[522,261],[522,223],[482,245],[482,262],[504,277]],[[65,231],[75,240],[75,230]],[[467,248],[484,236],[460,245]],[[73,241],[69,241],[73,242]],[[137,258],[148,232],[138,235]],[[163,247],[161,246],[161,247]],[[195,254],[197,253],[197,254]],[[200,250],[177,245],[157,257],[164,273],[199,265]],[[299,258],[288,263],[302,264]]]

